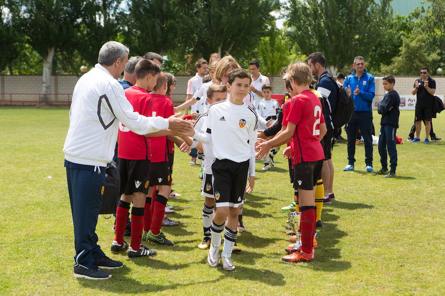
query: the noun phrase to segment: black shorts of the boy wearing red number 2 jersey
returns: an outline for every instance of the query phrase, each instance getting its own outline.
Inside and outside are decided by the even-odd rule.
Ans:
[[[312,190],[321,179],[323,160],[305,161],[294,165],[294,188]]]

